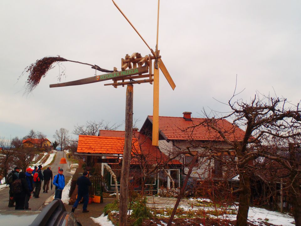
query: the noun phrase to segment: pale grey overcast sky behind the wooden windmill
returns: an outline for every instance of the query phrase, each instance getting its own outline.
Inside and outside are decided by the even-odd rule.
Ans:
[[[157,1],[116,0],[146,42],[155,49]],[[227,111],[235,89],[250,100],[256,90],[301,99],[301,1],[160,1],[159,49],[176,89],[160,73],[160,116],[202,109]],[[126,54],[150,54],[112,1],[0,2],[0,137],[41,131],[51,142],[61,127],[88,120],[124,123],[126,87],[105,82],[49,88],[59,67],[29,95],[24,68],[44,56],[120,69]],[[86,65],[64,62],[62,82],[91,77]],[[103,74],[97,72],[98,75]],[[152,115],[153,87],[134,85],[134,118],[141,128]],[[124,124],[119,128],[124,129]],[[73,135],[73,137],[75,137]]]

